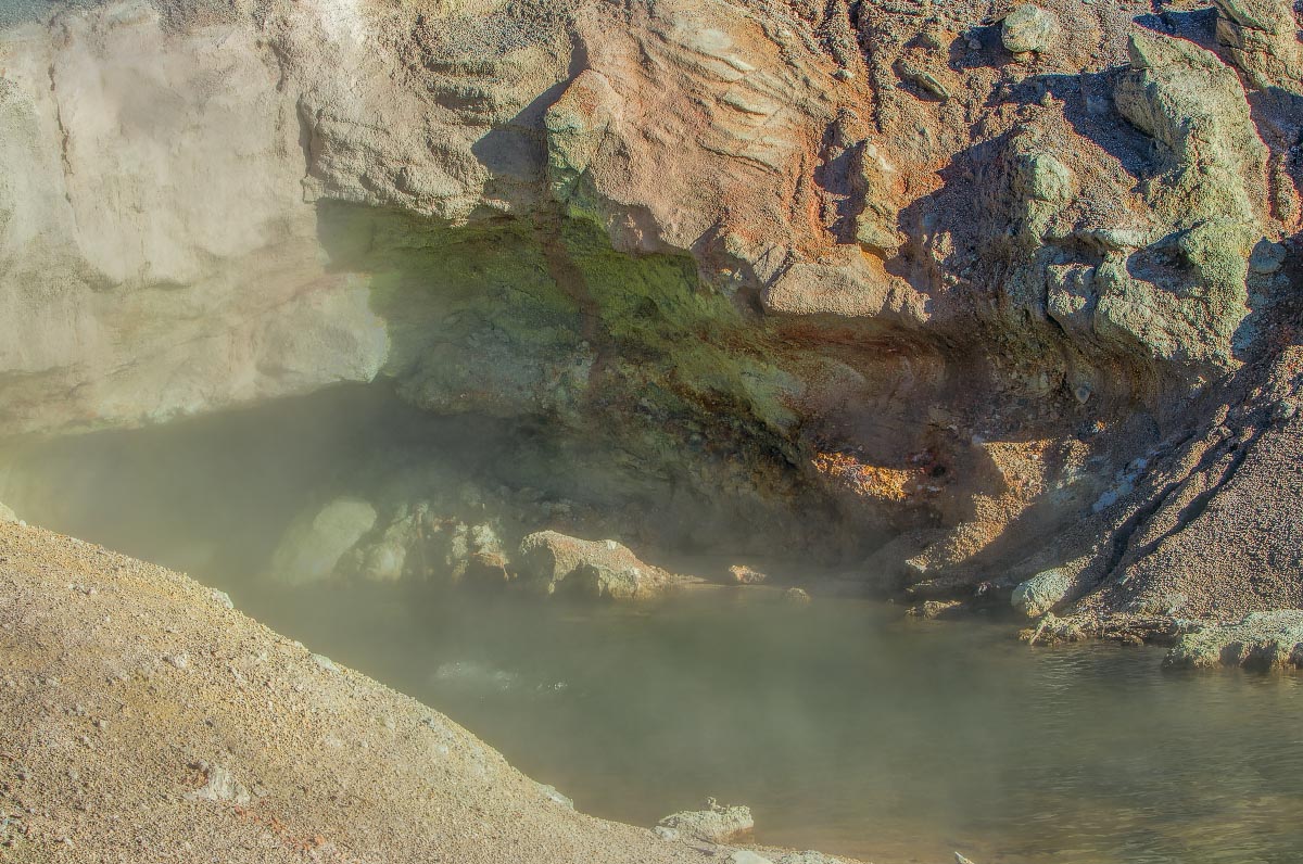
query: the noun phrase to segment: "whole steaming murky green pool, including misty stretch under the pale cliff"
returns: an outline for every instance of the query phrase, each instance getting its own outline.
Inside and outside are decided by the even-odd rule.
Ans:
[[[880,864],[1303,860],[1303,678],[1170,674],[1153,649],[1028,650],[1007,624],[764,589],[627,610],[274,588],[254,573],[323,478],[493,440],[374,392],[278,412],[14,451],[0,500],[227,589],[598,816],[652,825],[714,795],[749,804],[761,842]]]

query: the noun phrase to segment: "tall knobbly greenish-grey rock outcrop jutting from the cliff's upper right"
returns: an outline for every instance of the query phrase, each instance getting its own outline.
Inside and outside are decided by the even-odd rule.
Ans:
[[[1267,233],[1252,192],[1267,147],[1239,77],[1214,53],[1136,30],[1130,56],[1114,104],[1157,145],[1141,194],[1170,233],[1097,266],[1095,334],[1166,360],[1234,367],[1248,259]]]

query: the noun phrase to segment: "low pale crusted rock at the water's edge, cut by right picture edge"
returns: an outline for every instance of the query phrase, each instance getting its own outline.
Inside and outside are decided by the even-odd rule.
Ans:
[[[1235,624],[1213,624],[1187,633],[1167,652],[1164,666],[1303,667],[1303,610],[1252,612]]]

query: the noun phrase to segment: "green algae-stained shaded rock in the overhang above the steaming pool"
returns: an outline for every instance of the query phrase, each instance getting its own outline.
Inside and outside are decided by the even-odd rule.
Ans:
[[[586,219],[450,227],[337,203],[319,219],[334,266],[369,280],[383,374],[413,404],[598,425],[652,461],[694,437],[795,459],[797,381],[691,257],[624,254]]]

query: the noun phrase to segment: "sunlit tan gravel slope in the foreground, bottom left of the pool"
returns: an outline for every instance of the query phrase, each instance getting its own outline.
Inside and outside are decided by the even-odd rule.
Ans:
[[[576,813],[193,580],[18,524],[0,524],[0,843],[4,861],[731,856]]]

